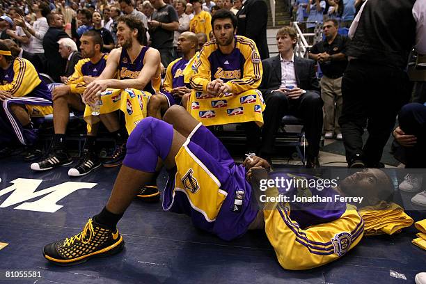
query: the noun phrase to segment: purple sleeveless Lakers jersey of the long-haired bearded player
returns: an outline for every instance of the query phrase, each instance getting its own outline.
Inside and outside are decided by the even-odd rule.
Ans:
[[[125,48],[121,49],[120,63],[118,65],[120,79],[136,79],[139,77],[139,73],[143,68],[143,58],[145,58],[145,53],[149,48],[150,47],[142,47],[141,52],[133,62],[130,60],[127,50]],[[143,90],[154,95],[159,91],[160,86],[161,76],[152,78],[150,84],[147,84]]]

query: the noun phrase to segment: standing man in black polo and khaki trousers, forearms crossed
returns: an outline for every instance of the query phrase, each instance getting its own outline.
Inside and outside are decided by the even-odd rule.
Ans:
[[[345,56],[347,38],[338,34],[336,19],[324,22],[325,40],[317,42],[309,52],[309,58],[321,66],[321,96],[324,101],[324,132],[326,139],[342,140],[338,124],[342,112],[342,76],[347,67]]]

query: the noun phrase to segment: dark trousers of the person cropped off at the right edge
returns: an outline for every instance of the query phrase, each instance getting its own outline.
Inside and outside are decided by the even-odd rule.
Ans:
[[[405,134],[415,135],[417,143],[405,148],[406,168],[426,168],[426,106],[406,104],[398,116],[400,128]]]

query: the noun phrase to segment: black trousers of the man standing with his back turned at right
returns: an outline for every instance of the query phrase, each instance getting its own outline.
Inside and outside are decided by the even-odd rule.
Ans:
[[[354,160],[371,167],[379,163],[397,113],[409,96],[409,79],[403,70],[365,61],[349,62],[342,79],[339,119],[348,164]],[[365,125],[369,135],[363,145]]]

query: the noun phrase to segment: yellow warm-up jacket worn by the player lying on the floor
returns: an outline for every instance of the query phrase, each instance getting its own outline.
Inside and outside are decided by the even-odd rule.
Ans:
[[[276,177],[318,180],[299,173],[269,175],[271,179]],[[285,190],[273,187],[265,191],[268,197],[289,198],[288,202],[267,203],[263,213],[265,231],[278,262],[291,270],[319,267],[340,258],[358,244],[364,230],[363,219],[356,207],[335,201],[334,196],[338,194],[335,189],[325,187],[319,190],[301,184]],[[298,200],[295,196],[307,199]],[[312,199],[313,196],[317,200]]]

